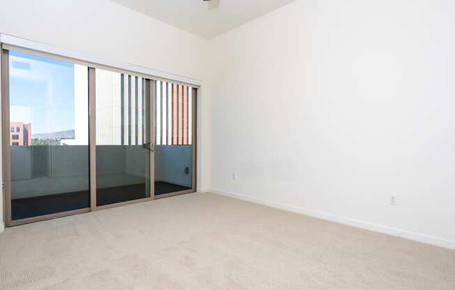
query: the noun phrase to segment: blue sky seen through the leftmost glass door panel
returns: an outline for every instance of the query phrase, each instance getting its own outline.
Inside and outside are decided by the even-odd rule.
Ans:
[[[74,64],[10,51],[10,121],[32,134],[74,129]]]

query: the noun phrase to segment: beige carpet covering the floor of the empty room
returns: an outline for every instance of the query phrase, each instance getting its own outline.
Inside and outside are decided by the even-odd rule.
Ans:
[[[214,194],[6,229],[0,289],[455,289],[455,251]]]

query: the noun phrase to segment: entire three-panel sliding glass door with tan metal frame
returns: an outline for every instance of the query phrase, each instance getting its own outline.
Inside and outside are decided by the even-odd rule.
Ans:
[[[186,84],[1,49],[6,225],[195,192]]]

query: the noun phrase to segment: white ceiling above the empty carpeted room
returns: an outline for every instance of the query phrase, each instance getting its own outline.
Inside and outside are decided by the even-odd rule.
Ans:
[[[204,38],[214,38],[294,0],[111,0]],[[216,4],[212,3],[211,5]]]

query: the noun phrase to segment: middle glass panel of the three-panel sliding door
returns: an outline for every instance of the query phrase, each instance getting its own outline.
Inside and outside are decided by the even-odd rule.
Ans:
[[[152,82],[96,69],[96,206],[151,196]]]

